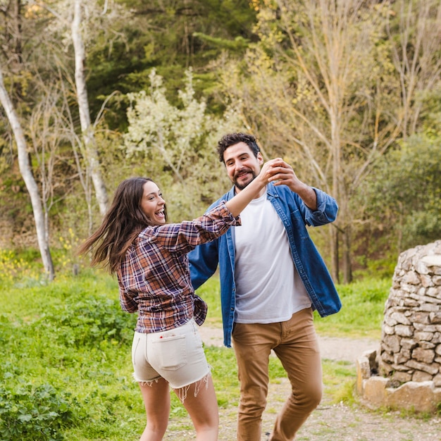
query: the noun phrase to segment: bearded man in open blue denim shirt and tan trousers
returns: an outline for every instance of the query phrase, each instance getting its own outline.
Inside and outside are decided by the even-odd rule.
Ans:
[[[225,135],[218,154],[234,184],[219,199],[228,200],[256,178],[263,158],[255,137],[244,133]],[[271,349],[287,372],[292,393],[269,440],[294,439],[322,396],[313,309],[328,316],[341,307],[306,230],[306,225],[333,222],[337,203],[300,181],[285,161],[275,171],[273,182],[242,211],[242,226],[189,254],[195,289],[219,264],[224,344],[231,347],[232,341],[240,380],[240,441],[261,440]]]

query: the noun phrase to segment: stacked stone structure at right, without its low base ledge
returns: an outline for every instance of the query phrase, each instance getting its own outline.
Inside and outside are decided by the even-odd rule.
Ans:
[[[441,387],[441,240],[404,251],[385,304],[380,375]]]

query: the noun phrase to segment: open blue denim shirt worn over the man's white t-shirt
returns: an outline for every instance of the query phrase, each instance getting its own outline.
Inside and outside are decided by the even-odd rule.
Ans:
[[[313,309],[321,317],[340,311],[342,304],[328,268],[309,237],[306,225],[318,226],[335,221],[337,202],[325,192],[314,188],[317,209],[309,209],[297,193],[286,185],[267,185],[266,197],[277,211],[290,241],[291,256],[309,294]],[[235,188],[210,206],[235,196]],[[240,227],[239,227],[240,228]],[[213,242],[201,244],[190,252],[190,274],[195,290],[208,280],[219,265],[223,343],[231,347],[232,325],[235,317],[235,227]],[[259,240],[259,238],[256,238]],[[265,240],[264,237],[261,240]],[[256,275],[259,277],[259,275]]]

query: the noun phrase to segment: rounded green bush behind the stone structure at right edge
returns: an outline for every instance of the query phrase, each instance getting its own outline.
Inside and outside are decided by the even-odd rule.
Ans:
[[[378,251],[378,236],[385,249],[398,251],[441,237],[440,157],[440,137],[414,135],[378,163],[357,196],[375,220],[371,253]]]

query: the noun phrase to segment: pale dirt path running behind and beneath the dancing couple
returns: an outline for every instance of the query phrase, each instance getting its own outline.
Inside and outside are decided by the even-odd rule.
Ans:
[[[223,346],[221,328],[203,325],[199,330],[207,346]],[[361,354],[378,349],[380,344],[369,339],[320,336],[319,342],[323,359],[345,360],[354,364]],[[271,431],[275,414],[289,390],[286,378],[270,385],[268,405],[263,414],[263,433]],[[235,441],[236,409],[220,409],[220,418],[219,441]],[[175,432],[170,433],[168,439],[187,441],[193,440],[194,435],[192,431]],[[261,441],[264,440],[266,436],[262,435]],[[399,412],[370,411],[359,405],[330,404],[327,397],[323,397],[320,406],[299,431],[296,441],[441,441],[441,418],[415,418],[400,416]]]

